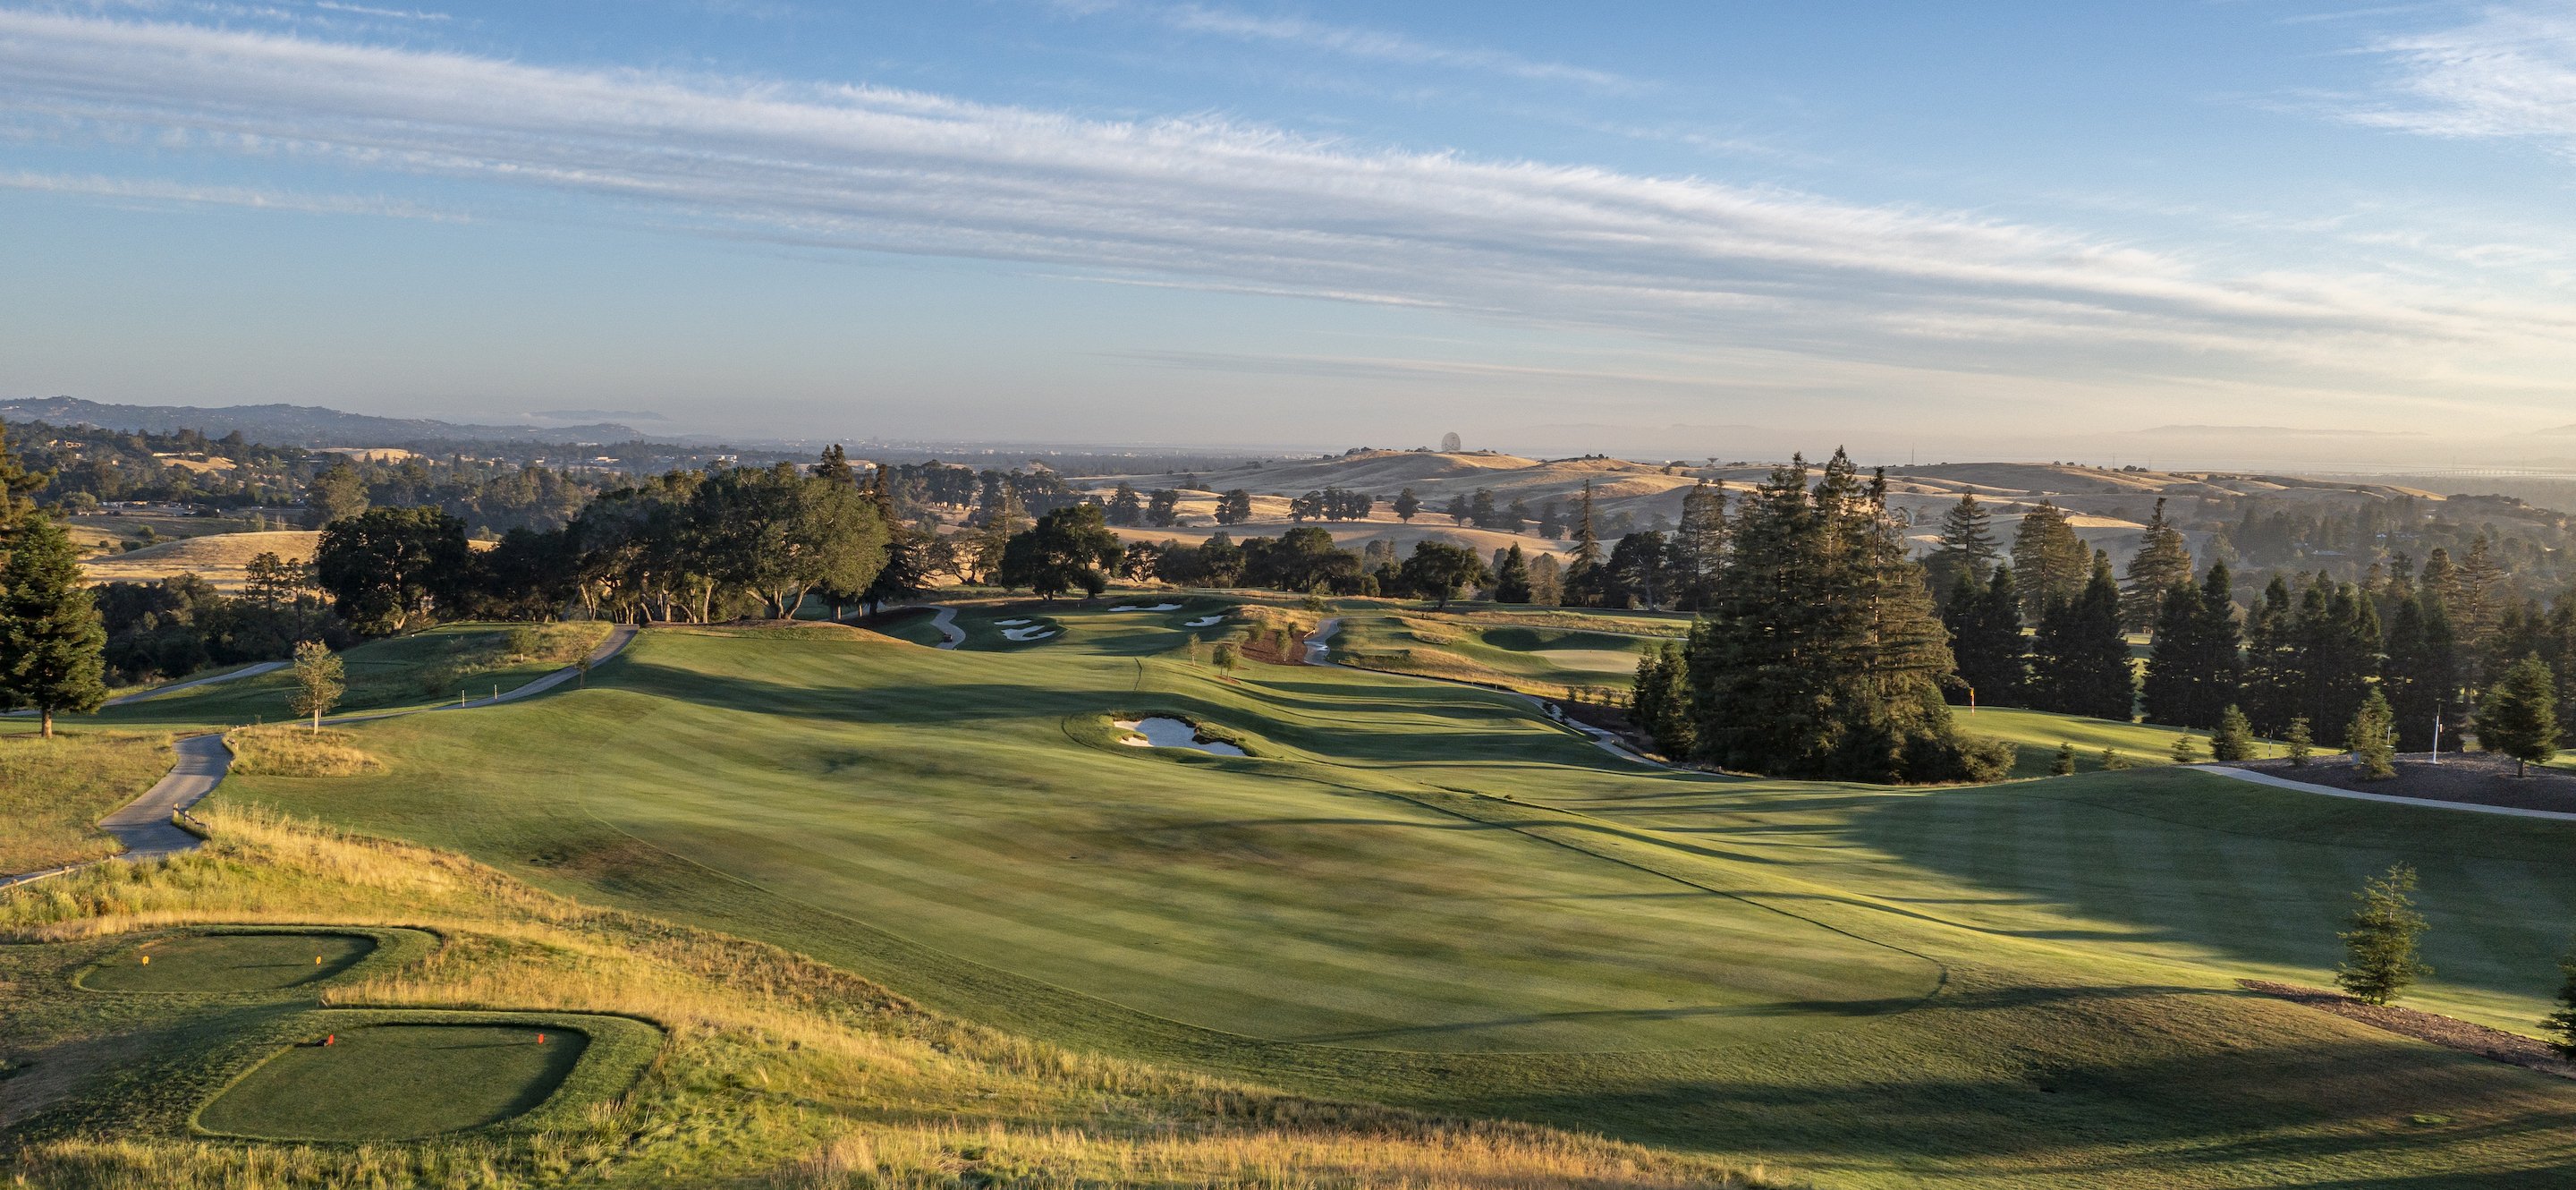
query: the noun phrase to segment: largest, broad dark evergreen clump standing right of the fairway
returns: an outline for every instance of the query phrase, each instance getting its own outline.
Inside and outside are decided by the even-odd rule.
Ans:
[[[2002,773],[2009,750],[1960,737],[1940,698],[1950,649],[1886,482],[1862,484],[1842,451],[1808,477],[1793,458],[1736,505],[1687,652],[1700,752],[1795,778]]]

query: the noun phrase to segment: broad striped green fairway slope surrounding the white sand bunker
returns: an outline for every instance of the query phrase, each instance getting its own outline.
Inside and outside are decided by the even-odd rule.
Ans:
[[[2550,822],[2179,770],[1891,791],[1649,773],[1507,695],[1043,649],[654,631],[585,693],[358,729],[263,801],[737,930],[930,1005],[1296,1090],[1788,1162],[1824,1185],[2509,1180],[2576,1087],[2246,997],[2424,868],[2419,1005],[2530,1028]],[[1121,750],[1151,701],[1242,734]],[[2053,739],[2050,739],[2053,744]],[[2411,1123],[2416,1115],[2424,1123]],[[2427,1182],[2429,1185],[2429,1182]]]

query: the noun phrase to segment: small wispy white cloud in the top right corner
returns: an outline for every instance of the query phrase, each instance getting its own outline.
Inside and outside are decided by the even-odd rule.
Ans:
[[[2576,155],[2576,5],[2486,8],[2470,23],[2370,46],[2398,64],[2393,100],[2344,118],[2427,137],[2537,139]]]

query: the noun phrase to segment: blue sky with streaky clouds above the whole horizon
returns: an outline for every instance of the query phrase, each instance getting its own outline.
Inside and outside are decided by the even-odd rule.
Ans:
[[[2576,453],[2576,3],[0,0],[0,397]]]

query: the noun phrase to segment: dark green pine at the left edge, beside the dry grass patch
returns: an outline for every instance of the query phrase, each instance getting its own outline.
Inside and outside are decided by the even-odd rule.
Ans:
[[[44,513],[28,513],[0,538],[0,706],[33,706],[41,734],[57,713],[90,713],[108,698],[108,628],[80,585],[72,538]]]

